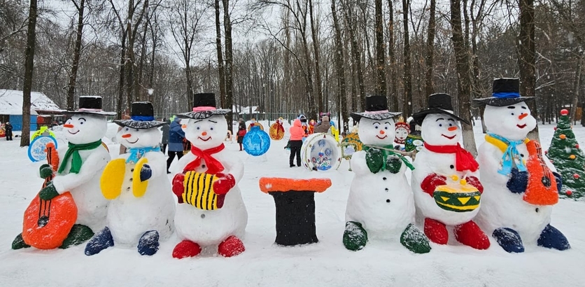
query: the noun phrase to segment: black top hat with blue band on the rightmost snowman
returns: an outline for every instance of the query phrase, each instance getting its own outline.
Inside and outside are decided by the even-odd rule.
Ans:
[[[475,106],[509,106],[535,97],[520,97],[519,78],[497,78],[493,80],[492,97],[474,99]]]

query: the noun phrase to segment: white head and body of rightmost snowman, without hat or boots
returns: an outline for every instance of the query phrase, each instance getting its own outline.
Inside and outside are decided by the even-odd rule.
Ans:
[[[522,116],[524,113],[528,113],[528,116]],[[509,141],[526,139],[528,132],[536,127],[536,120],[530,116],[525,102],[509,106],[486,106],[484,120],[488,132]],[[526,144],[519,144],[517,149],[521,160],[528,159]],[[551,222],[552,206],[529,204],[523,200],[524,193],[512,193],[507,188],[510,177],[498,173],[504,155],[500,148],[486,141],[479,146],[478,153],[484,194],[477,223],[489,233],[498,228],[512,228],[519,233],[524,244],[536,244],[542,230]]]

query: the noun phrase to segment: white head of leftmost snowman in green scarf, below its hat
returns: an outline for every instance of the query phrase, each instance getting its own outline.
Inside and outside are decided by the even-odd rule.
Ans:
[[[106,135],[108,123],[105,116],[81,113],[72,115],[63,127],[65,139],[71,144],[89,144]]]

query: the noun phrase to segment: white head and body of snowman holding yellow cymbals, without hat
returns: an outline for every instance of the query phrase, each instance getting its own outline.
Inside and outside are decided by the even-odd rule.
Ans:
[[[124,127],[116,137],[132,151],[132,148],[157,146],[160,132],[156,127],[146,130]],[[125,153],[119,158],[127,160],[129,155]],[[135,246],[141,236],[150,230],[157,231],[161,240],[168,239],[174,231],[175,203],[164,154],[148,151],[140,158],[148,160],[152,171],[146,192],[141,197],[134,196],[132,182],[140,179],[133,178],[136,162],[127,161],[121,193],[111,200],[108,207],[108,228],[116,245]]]

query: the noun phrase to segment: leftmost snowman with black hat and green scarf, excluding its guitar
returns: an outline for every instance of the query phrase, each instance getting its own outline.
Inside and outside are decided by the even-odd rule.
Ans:
[[[76,224],[62,248],[83,243],[106,225],[108,201],[99,190],[99,176],[111,157],[101,138],[106,135],[106,116],[115,116],[101,110],[101,97],[79,97],[79,109],[65,113],[71,115],[63,125],[69,144],[57,149],[57,174],[39,193],[42,200],[50,200],[70,191],[75,201]],[[51,173],[50,166],[41,166],[41,176]]]

